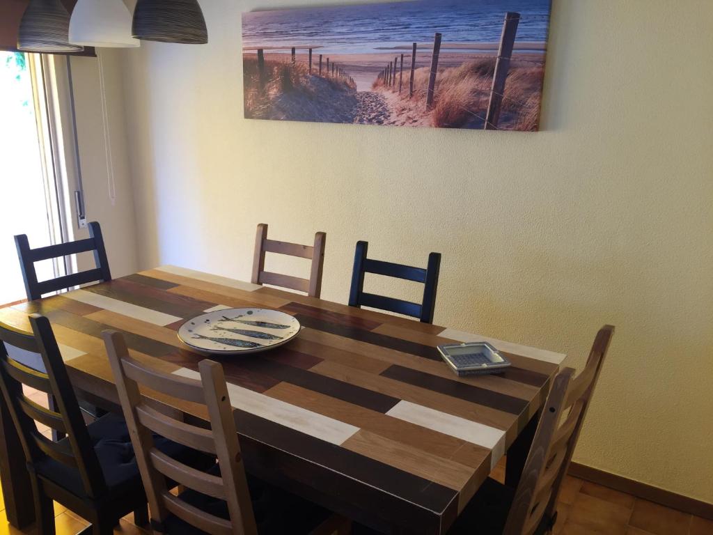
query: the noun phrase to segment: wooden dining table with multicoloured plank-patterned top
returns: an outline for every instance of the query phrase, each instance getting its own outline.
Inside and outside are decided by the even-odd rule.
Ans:
[[[205,357],[178,340],[178,328],[233,307],[281,310],[302,326],[282,347],[212,357],[225,368],[248,472],[383,531],[446,533],[506,454],[506,483],[517,484],[565,358],[173,266],[6,307],[0,322],[29,330],[29,314],[48,317],[78,396],[118,411],[103,330],[123,332],[136,359],[196,377]],[[491,342],[512,366],[457,377],[436,346],[469,341]],[[200,407],[143,394],[205,421]],[[34,519],[31,491],[1,408],[0,477],[8,519],[21,528]]]

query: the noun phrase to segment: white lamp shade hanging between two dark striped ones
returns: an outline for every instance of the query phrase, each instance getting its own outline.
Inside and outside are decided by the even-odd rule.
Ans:
[[[69,42],[82,46],[133,48],[131,14],[122,0],[78,0],[69,22]]]

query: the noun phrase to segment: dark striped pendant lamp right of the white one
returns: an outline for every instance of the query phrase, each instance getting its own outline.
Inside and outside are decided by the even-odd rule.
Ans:
[[[138,39],[163,43],[208,42],[198,0],[138,0],[132,34]]]

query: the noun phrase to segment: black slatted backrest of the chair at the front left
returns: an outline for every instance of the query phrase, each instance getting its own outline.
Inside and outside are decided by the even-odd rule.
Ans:
[[[52,327],[46,317],[36,314],[31,315],[30,323],[34,334],[0,324],[0,388],[19,434],[26,461],[37,464],[49,457],[77,470],[86,495],[101,497],[106,494],[106,481]],[[15,360],[9,352],[15,353],[16,350],[41,355],[46,372],[34,370]],[[46,409],[26,397],[23,385],[52,396],[57,411]],[[36,422],[66,434],[67,438],[54,442],[39,432]]]

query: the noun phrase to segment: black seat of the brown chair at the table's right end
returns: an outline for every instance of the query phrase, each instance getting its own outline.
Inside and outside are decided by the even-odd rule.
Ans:
[[[448,535],[502,535],[514,498],[515,489],[488,477],[448,530]],[[544,535],[549,526],[549,519],[543,519],[533,535]],[[376,533],[365,526],[355,525],[353,530],[354,535]]]

